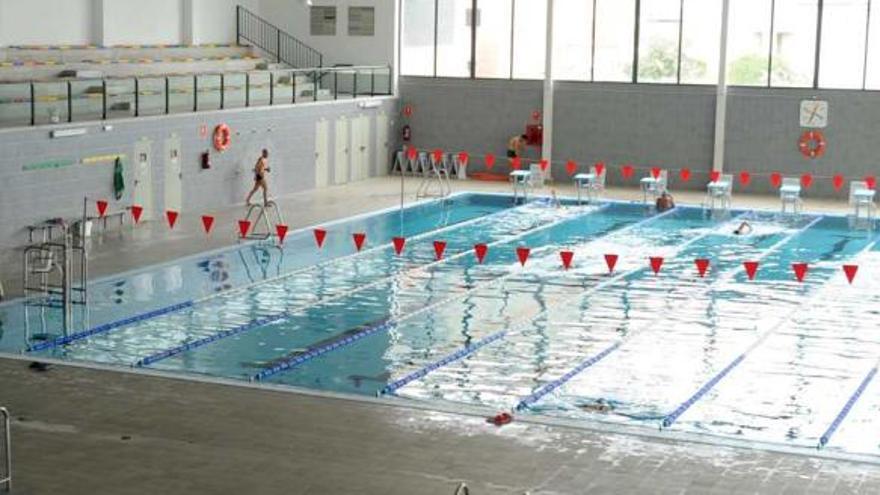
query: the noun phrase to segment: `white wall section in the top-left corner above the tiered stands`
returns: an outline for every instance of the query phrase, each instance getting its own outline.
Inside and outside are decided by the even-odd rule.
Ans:
[[[92,1],[0,0],[0,46],[88,45]]]

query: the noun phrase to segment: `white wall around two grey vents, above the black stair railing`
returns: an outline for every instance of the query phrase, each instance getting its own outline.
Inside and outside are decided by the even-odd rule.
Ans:
[[[336,6],[336,36],[311,36],[303,0],[260,0],[261,16],[324,54],[324,65],[391,64],[394,55],[394,0],[314,0]],[[348,36],[348,7],[375,7],[374,36]]]

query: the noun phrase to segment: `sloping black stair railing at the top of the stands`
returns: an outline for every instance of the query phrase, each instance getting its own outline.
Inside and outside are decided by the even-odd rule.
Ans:
[[[321,52],[241,5],[236,7],[235,30],[239,45],[250,44],[272,56],[276,62],[295,69],[324,66]]]

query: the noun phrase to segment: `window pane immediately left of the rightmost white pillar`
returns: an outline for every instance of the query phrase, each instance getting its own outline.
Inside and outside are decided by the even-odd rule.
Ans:
[[[684,0],[681,83],[718,82],[722,0]]]

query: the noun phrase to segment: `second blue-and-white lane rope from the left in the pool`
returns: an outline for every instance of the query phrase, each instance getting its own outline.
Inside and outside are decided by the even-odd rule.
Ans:
[[[573,210],[570,214],[565,215],[562,218],[557,218],[557,219],[552,220],[546,224],[535,227],[531,230],[527,230],[524,232],[520,232],[518,234],[514,234],[512,236],[507,236],[503,239],[499,239],[499,240],[494,241],[491,244],[489,244],[489,246],[497,246],[497,245],[501,245],[501,244],[508,244],[511,242],[515,242],[517,239],[527,237],[527,236],[532,235],[534,233],[541,232],[543,230],[558,226],[560,224],[563,224],[563,223],[566,223],[569,221],[575,221],[580,218],[587,217],[587,216],[592,215],[598,211],[601,211],[602,209],[607,208],[607,207],[608,207],[608,205],[602,206],[602,207],[596,208],[596,209]],[[213,344],[214,342],[217,342],[219,340],[222,340],[222,339],[225,339],[228,337],[233,337],[235,335],[240,335],[242,333],[248,332],[250,330],[253,330],[253,329],[261,327],[261,326],[279,323],[283,320],[289,319],[290,317],[294,316],[298,312],[308,310],[308,309],[313,308],[318,305],[325,305],[325,304],[331,303],[333,301],[337,301],[340,299],[350,297],[353,294],[357,294],[362,291],[365,291],[365,290],[368,290],[368,289],[371,289],[371,288],[374,288],[377,286],[381,286],[381,285],[389,283],[395,279],[400,279],[400,280],[409,279],[416,274],[425,273],[425,272],[429,271],[429,269],[436,268],[438,265],[442,265],[444,263],[448,263],[448,262],[451,262],[451,261],[454,261],[457,259],[461,259],[466,256],[472,256],[472,252],[470,250],[462,251],[461,253],[456,254],[454,256],[450,256],[450,257],[444,258],[442,260],[434,261],[434,262],[431,262],[427,265],[421,265],[421,266],[417,266],[417,267],[410,268],[407,270],[403,270],[403,271],[401,271],[395,275],[392,275],[390,277],[385,277],[385,278],[382,278],[379,280],[375,280],[373,282],[361,285],[359,287],[356,287],[354,289],[351,289],[351,290],[348,290],[345,292],[340,292],[338,294],[334,294],[332,296],[328,296],[328,297],[319,299],[317,301],[309,301],[305,304],[300,304],[298,306],[288,308],[284,312],[279,313],[277,315],[273,315],[273,316],[261,318],[259,320],[251,321],[251,322],[245,323],[243,325],[239,325],[237,327],[234,327],[234,328],[231,328],[228,330],[223,330],[223,331],[215,333],[213,335],[209,335],[207,337],[203,337],[203,338],[200,338],[197,340],[193,340],[193,341],[186,342],[186,343],[183,343],[183,344],[180,344],[180,345],[168,348],[168,349],[164,349],[164,350],[155,352],[153,354],[150,354],[149,356],[146,356],[146,357],[143,357],[143,358],[137,360],[134,363],[134,366],[139,366],[139,367],[140,366],[148,366],[148,365],[157,363],[159,361],[168,359],[170,357],[176,356],[178,354],[182,354],[184,352],[188,352],[188,351],[200,348],[200,347],[204,347],[209,344]],[[513,274],[515,274],[515,273],[511,272],[510,275],[513,275]],[[488,283],[491,283],[494,280],[496,280],[496,279],[493,279],[492,281],[490,281]],[[475,287],[475,289],[477,289],[477,288],[478,287]],[[441,302],[443,302],[443,301],[441,301]],[[360,338],[358,338],[356,340],[359,340],[359,339]],[[287,369],[287,368],[284,368],[284,369]]]

